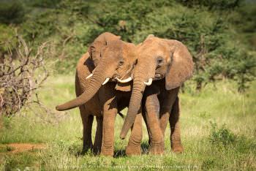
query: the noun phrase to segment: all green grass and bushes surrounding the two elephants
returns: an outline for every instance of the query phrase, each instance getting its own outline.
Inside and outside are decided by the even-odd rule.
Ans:
[[[256,4],[242,0],[0,1],[0,168],[255,170],[255,15]],[[181,93],[184,153],[172,153],[165,136],[166,153],[146,155],[144,126],[143,155],[125,156],[127,140],[118,138],[123,124],[118,116],[115,157],[80,155],[83,126],[78,109],[57,113],[54,107],[75,97],[78,58],[104,31],[135,44],[154,34],[189,47],[195,75]],[[27,72],[19,73],[31,69],[33,62],[38,67],[22,85],[27,91],[33,83],[35,89],[20,105],[20,96],[12,97],[24,88],[16,93],[19,86],[8,85],[27,77]],[[7,64],[19,67],[10,77]],[[17,103],[10,105],[10,99]],[[167,130],[165,135],[170,134]],[[45,148],[14,153],[10,143]]]

